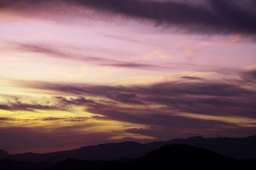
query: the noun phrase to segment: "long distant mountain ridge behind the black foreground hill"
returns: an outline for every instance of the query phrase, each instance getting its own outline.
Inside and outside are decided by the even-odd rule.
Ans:
[[[67,158],[80,160],[104,160],[135,159],[144,156],[151,150],[155,150],[166,144],[187,144],[199,148],[213,150],[227,157],[236,159],[256,159],[256,135],[245,138],[203,138],[190,137],[187,139],[173,139],[169,141],[154,141],[148,144],[137,142],[121,142],[85,146],[79,149],[51,152],[45,154],[23,153],[16,155],[0,155],[0,159],[6,158],[13,161],[44,162],[63,161]]]

